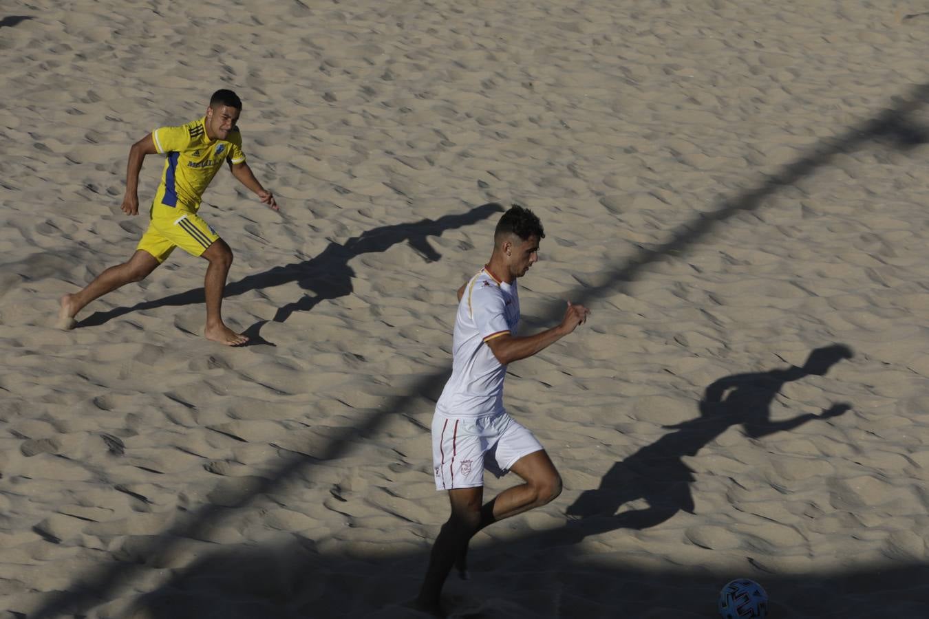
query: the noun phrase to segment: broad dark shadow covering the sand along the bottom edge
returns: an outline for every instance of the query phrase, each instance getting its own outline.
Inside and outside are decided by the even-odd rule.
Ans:
[[[568,535],[566,535],[566,533]],[[487,619],[718,619],[716,595],[739,574],[713,574],[665,561],[655,569],[616,561],[583,561],[575,531],[497,539],[472,580],[451,576],[444,596],[451,617]],[[591,532],[593,533],[593,532]],[[424,617],[402,606],[420,584],[428,551],[367,557],[322,553],[294,535],[286,546],[222,548],[195,561],[157,591],[142,596],[142,619],[405,619]],[[712,551],[707,550],[707,556]],[[478,564],[483,552],[477,549]],[[622,553],[618,553],[621,554]],[[492,555],[492,556],[491,556]],[[656,558],[657,559],[657,558]],[[657,565],[659,561],[641,561]],[[754,566],[757,568],[757,565]],[[922,619],[929,567],[851,569],[843,574],[754,576],[783,619]]]

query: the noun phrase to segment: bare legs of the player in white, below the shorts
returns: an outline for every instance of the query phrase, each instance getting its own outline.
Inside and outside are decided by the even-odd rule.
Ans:
[[[471,538],[492,522],[541,507],[561,494],[561,477],[543,450],[519,458],[510,469],[525,484],[507,488],[481,506],[483,488],[456,488],[449,491],[451,517],[442,525],[429,557],[417,605],[431,613],[441,613],[439,595],[454,565],[466,574],[467,545]]]

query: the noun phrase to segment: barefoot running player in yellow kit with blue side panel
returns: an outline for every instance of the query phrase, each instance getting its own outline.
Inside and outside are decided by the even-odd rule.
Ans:
[[[223,162],[232,175],[257,194],[258,199],[277,211],[270,191],[252,174],[242,153],[242,135],[236,123],[242,113],[242,100],[231,90],[217,90],[210,97],[206,115],[179,127],[159,127],[132,145],[125,172],[122,209],[138,214],[138,173],[146,155],[165,155],[162,182],[151,204],[149,229],[138,241],[129,262],[111,266],[84,290],[61,297],[59,325],[72,329],[74,316],[87,303],[132,281],[141,281],[164,262],[176,247],[209,261],[203,290],[206,296],[207,340],[236,346],[248,341],[242,333],[229,329],[220,309],[226,277],[232,264],[232,250],[226,241],[197,214],[203,191]]]

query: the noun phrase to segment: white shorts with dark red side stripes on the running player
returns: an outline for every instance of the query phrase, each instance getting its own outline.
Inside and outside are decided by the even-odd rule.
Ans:
[[[462,419],[437,411],[432,418],[437,490],[482,486],[484,469],[503,477],[519,458],[542,449],[532,432],[506,412]]]

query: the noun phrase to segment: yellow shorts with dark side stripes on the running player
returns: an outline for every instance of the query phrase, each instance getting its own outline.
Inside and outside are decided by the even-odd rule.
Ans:
[[[216,230],[203,221],[203,217],[190,211],[154,204],[150,217],[149,229],[139,239],[136,250],[148,251],[159,263],[163,263],[176,247],[200,256],[219,239]]]

